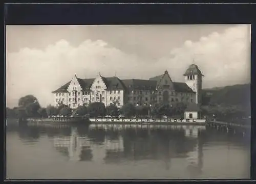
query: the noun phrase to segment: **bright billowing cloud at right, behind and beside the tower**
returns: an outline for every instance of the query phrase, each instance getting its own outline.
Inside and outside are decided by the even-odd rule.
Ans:
[[[248,25],[238,25],[226,29],[222,34],[214,32],[203,36],[197,42],[187,40],[183,47],[173,49],[169,56],[161,58],[159,64],[168,66],[174,80],[182,81],[184,66],[191,64],[194,59],[205,75],[205,88],[249,83],[249,28]]]

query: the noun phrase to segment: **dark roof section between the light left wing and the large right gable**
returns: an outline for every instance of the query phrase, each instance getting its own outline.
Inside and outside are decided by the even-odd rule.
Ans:
[[[139,79],[126,79],[122,80],[127,89],[137,90],[155,90],[157,86],[156,81],[139,80]]]

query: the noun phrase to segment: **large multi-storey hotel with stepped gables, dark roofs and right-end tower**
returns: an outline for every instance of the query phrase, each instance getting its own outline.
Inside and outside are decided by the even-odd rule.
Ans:
[[[191,64],[185,71],[185,83],[173,82],[168,71],[149,80],[103,77],[81,79],[76,75],[67,84],[53,91],[54,105],[67,104],[76,109],[83,104],[102,102],[105,106],[125,103],[154,105],[156,103],[201,102],[202,76],[198,66]]]

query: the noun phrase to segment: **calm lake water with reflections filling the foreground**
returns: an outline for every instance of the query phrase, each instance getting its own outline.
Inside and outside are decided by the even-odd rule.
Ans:
[[[196,126],[8,125],[7,178],[246,179],[249,139]]]

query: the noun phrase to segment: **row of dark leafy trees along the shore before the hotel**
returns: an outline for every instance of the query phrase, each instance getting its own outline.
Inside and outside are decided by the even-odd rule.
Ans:
[[[134,106],[131,103],[125,104],[122,108],[118,108],[115,104],[108,107],[104,103],[93,102],[89,106],[79,106],[72,110],[65,104],[60,104],[58,107],[47,106],[42,108],[36,97],[27,95],[19,99],[18,107],[13,109],[6,109],[7,118],[28,119],[28,118],[49,118],[52,116],[84,116],[88,115],[90,118],[96,117],[118,117],[122,115],[125,118],[162,118],[163,116],[172,118],[184,118],[184,111],[186,104],[182,102],[169,104],[155,104],[155,106]],[[216,120],[232,120],[233,122],[241,122],[243,117],[247,116],[244,109],[237,106],[220,106],[210,104],[202,106],[200,111],[201,117],[209,119],[216,118]]]

